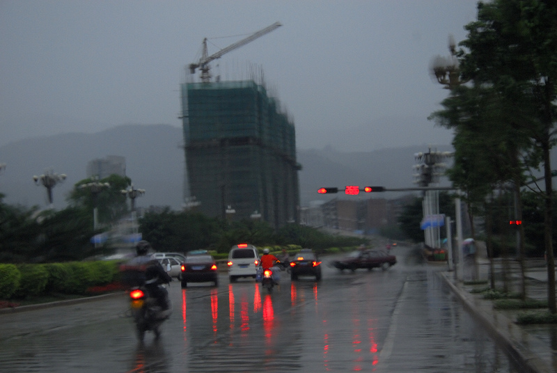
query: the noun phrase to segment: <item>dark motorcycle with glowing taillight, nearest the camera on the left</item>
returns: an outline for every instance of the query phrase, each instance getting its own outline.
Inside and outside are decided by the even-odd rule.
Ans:
[[[130,290],[130,309],[140,341],[143,341],[146,331],[152,331],[158,339],[161,335],[160,326],[171,314],[171,308],[162,310],[157,299],[150,296],[149,290],[144,286]]]

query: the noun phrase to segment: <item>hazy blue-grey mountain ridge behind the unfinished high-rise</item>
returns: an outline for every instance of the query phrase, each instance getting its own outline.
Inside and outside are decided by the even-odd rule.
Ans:
[[[0,162],[7,165],[0,175],[0,192],[6,194],[7,203],[44,206],[45,188],[33,184],[32,177],[52,168],[56,173],[68,175],[63,184],[54,188],[54,205],[61,208],[73,185],[86,177],[88,161],[118,155],[125,157],[126,174],[134,186],[146,189],[145,195],[136,200],[137,206],[168,205],[180,209],[185,180],[182,146],[182,129],[171,125],[120,125],[95,134],[26,138],[0,147]],[[450,146],[436,150],[450,150]],[[337,152],[330,146],[322,150],[298,150],[297,160],[302,166],[301,205],[306,206],[312,200],[348,198],[340,193],[322,196],[317,193],[320,187],[414,187],[414,153],[425,151],[423,145],[372,152]],[[375,198],[397,196],[400,193],[373,195]]]

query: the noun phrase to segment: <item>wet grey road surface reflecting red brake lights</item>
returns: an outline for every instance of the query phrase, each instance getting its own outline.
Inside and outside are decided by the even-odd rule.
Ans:
[[[125,296],[1,315],[0,371],[519,372],[435,274],[444,267],[409,252],[396,248],[389,271],[323,267],[320,283],[283,272],[271,295],[226,276],[172,283],[158,342],[137,342]]]

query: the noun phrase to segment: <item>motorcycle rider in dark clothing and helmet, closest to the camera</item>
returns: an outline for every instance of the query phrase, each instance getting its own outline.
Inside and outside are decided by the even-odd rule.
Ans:
[[[169,315],[170,301],[168,299],[168,291],[160,285],[170,283],[172,278],[164,271],[158,260],[148,255],[150,248],[151,245],[148,241],[139,241],[136,245],[137,256],[127,262],[126,267],[139,268],[141,271],[144,271],[144,285],[147,291],[150,296],[157,300],[157,305],[160,306],[163,315]]]

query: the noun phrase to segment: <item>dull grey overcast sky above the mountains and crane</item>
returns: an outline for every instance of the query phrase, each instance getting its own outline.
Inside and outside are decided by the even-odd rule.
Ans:
[[[203,38],[212,54],[276,21],[212,71],[231,80],[262,66],[298,148],[450,144],[427,121],[448,93],[428,66],[448,54],[449,34],[466,38],[476,3],[0,0],[0,145],[126,123],[181,127],[179,84]]]

